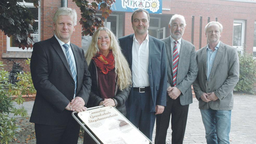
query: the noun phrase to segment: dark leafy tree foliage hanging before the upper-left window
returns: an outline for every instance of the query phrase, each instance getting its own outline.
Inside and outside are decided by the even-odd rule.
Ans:
[[[33,0],[34,6],[38,6],[38,1]],[[0,1],[0,29],[8,37],[12,36],[14,44],[22,49],[33,46],[34,17],[26,7],[17,4],[17,0]]]

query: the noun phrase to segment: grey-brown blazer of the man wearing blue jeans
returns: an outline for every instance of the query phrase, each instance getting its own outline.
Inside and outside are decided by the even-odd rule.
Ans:
[[[220,42],[213,67],[207,81],[207,45],[196,51],[198,75],[193,83],[199,109],[231,110],[233,109],[233,89],[239,80],[239,60],[237,50]],[[204,102],[203,93],[211,93],[219,98],[216,101]]]

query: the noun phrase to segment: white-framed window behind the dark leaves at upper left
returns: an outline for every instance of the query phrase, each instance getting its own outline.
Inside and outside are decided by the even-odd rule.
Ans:
[[[25,5],[31,11],[31,13],[34,15],[35,23],[33,24],[33,34],[31,34],[31,35],[34,36],[35,42],[38,42],[40,40],[40,19],[41,19],[41,17],[40,17],[40,1],[39,1],[38,8],[34,7],[32,0],[27,1],[27,2],[25,2],[23,0],[18,0],[17,2],[20,5]],[[21,48],[16,47],[12,41],[12,37],[9,38],[7,36],[7,51],[32,51],[32,49],[25,48],[23,50]]]

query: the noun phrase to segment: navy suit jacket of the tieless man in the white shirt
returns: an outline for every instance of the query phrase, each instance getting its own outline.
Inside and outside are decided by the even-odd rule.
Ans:
[[[132,70],[132,44],[133,35],[119,38],[120,46],[124,56]],[[166,68],[166,49],[164,42],[149,36],[149,83],[151,90],[150,112],[155,112],[156,105],[166,106],[167,91],[167,68]],[[133,108],[133,89],[131,89],[126,107]]]

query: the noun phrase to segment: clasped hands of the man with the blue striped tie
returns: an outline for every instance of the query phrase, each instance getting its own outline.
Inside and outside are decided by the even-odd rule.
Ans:
[[[66,110],[83,112],[86,111],[85,101],[81,97],[75,97],[71,102],[68,103]]]

